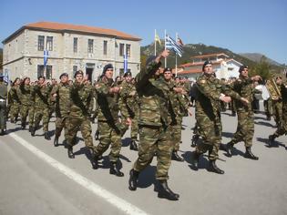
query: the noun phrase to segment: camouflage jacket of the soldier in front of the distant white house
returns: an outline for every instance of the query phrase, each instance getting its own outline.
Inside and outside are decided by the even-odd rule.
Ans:
[[[211,120],[220,120],[220,94],[241,99],[240,95],[214,76],[202,74],[196,85],[196,115],[206,115]]]

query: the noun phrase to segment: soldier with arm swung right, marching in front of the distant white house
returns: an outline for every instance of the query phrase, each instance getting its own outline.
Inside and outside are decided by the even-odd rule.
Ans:
[[[201,141],[198,142],[194,151],[194,169],[198,170],[200,155],[209,151],[209,170],[218,174],[224,171],[217,167],[216,159],[219,158],[218,151],[221,143],[222,125],[220,119],[220,101],[231,102],[231,97],[248,102],[230,87],[223,85],[214,76],[212,64],[206,61],[202,67],[203,74],[197,80],[197,102],[196,102],[196,125]],[[231,96],[231,97],[230,97]]]

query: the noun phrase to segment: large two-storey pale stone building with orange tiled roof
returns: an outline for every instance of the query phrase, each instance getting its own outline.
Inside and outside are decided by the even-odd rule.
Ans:
[[[90,80],[97,79],[111,63],[115,77],[124,72],[124,54],[133,75],[140,68],[140,38],[113,29],[38,22],[22,26],[2,43],[3,70],[11,79],[40,75],[47,79],[81,69]],[[44,50],[48,51],[44,69]]]

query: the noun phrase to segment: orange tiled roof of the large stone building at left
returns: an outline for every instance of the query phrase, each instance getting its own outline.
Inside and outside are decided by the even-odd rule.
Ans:
[[[101,28],[101,27],[95,27],[95,26],[77,26],[77,25],[72,25],[72,24],[61,24],[61,23],[54,23],[54,22],[37,22],[37,23],[28,24],[26,26],[22,26],[13,35],[7,37],[3,41],[3,43],[5,43],[5,41],[8,40],[10,37],[14,36],[15,34],[19,33],[20,31],[24,29],[46,30],[46,31],[56,31],[56,32],[73,31],[73,32],[78,32],[78,33],[114,36],[117,38],[129,39],[129,40],[135,40],[135,41],[141,40],[141,38],[139,38],[138,36],[131,36],[124,32],[114,30],[114,29]]]

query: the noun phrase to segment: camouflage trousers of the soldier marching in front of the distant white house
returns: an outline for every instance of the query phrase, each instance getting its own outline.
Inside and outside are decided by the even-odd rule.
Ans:
[[[216,118],[209,118],[206,115],[196,115],[196,125],[200,140],[195,148],[196,152],[203,154],[209,151],[209,159],[218,159],[221,143],[222,125],[220,113]]]

